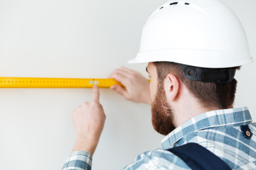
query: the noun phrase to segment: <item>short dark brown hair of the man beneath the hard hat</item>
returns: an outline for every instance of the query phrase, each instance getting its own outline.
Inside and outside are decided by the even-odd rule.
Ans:
[[[233,106],[238,83],[235,79],[226,84],[193,81],[186,78],[179,64],[173,62],[154,62],[154,65],[156,66],[159,82],[164,81],[169,73],[176,75],[204,107],[223,109]],[[240,69],[240,67],[237,67],[237,69]]]

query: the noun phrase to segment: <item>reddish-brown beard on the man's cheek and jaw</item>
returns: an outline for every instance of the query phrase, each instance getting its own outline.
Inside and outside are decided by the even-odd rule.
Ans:
[[[166,101],[164,84],[161,82],[156,92],[156,98],[151,104],[152,125],[156,132],[168,135],[176,127],[174,125],[174,113]]]

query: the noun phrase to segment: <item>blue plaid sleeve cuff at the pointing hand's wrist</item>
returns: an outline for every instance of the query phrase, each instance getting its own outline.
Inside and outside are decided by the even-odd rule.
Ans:
[[[91,170],[92,155],[85,151],[73,152],[66,160],[62,170]]]

